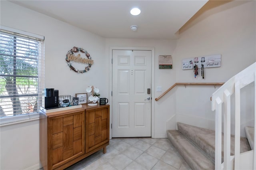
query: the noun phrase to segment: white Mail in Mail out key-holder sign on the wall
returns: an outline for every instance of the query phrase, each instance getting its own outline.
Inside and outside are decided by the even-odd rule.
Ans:
[[[208,55],[203,57],[194,57],[188,59],[182,59],[182,69],[194,69],[197,65],[200,69],[203,65],[204,68],[209,67],[220,67],[221,66],[221,55]]]

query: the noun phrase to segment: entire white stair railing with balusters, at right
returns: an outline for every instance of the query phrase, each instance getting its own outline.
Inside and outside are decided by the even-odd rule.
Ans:
[[[215,170],[240,169],[240,89],[254,82],[256,93],[256,63],[253,63],[234,77],[229,79],[212,94],[212,111],[215,111]],[[230,156],[230,96],[235,93],[235,154],[234,164]],[[256,94],[254,105],[254,127],[256,127]],[[224,162],[222,164],[222,105],[224,106]],[[254,128],[255,129],[255,128]],[[254,146],[256,147],[256,130],[254,130]],[[251,156],[253,169],[256,169],[256,148]],[[249,162],[246,162],[247,164]],[[249,163],[250,164],[250,163]]]

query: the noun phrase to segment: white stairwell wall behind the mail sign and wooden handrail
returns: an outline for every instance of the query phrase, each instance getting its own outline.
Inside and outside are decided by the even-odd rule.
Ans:
[[[180,30],[174,51],[177,82],[226,82],[256,61],[256,2],[210,1],[204,10]],[[193,70],[182,70],[182,59],[221,54],[221,67],[205,68],[196,79]],[[176,66],[176,67],[175,67]],[[177,121],[214,129],[210,96],[214,87],[176,88]],[[248,93],[249,92],[249,93]],[[252,118],[253,86],[241,91],[242,124]],[[199,102],[199,105],[198,105]],[[184,116],[185,115],[185,116]],[[194,121],[190,119],[196,118]],[[184,119],[186,117],[187,119]],[[198,119],[200,118],[200,119]],[[201,120],[201,121],[198,121]]]

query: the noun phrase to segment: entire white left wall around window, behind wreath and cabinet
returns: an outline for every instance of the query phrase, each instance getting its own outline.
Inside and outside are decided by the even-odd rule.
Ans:
[[[45,37],[45,87],[59,90],[59,95],[85,93],[94,85],[102,97],[108,97],[108,57],[105,39],[38,12],[8,1],[0,1],[1,25]],[[90,53],[94,64],[87,73],[78,74],[67,66],[66,53],[73,47]],[[39,168],[39,121],[1,127],[0,169]],[[15,143],[12,142],[15,140]]]

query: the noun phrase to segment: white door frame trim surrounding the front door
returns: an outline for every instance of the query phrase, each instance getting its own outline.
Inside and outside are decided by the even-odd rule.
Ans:
[[[154,47],[119,47],[119,46],[110,46],[109,47],[109,105],[110,105],[110,139],[112,138],[112,50],[150,50],[152,51],[151,56],[151,137],[155,136],[155,48]]]

